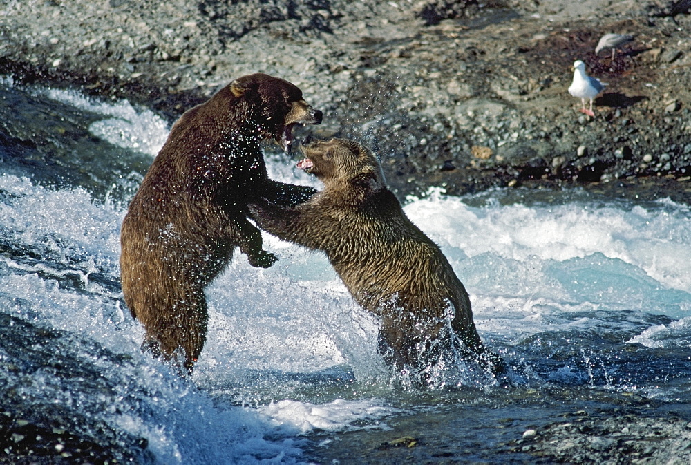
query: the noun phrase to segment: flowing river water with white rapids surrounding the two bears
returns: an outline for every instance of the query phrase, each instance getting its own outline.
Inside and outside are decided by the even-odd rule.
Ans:
[[[267,234],[280,260],[256,269],[238,253],[209,287],[209,338],[183,380],[140,352],[118,267],[127,202],[167,122],[10,77],[0,115],[0,456],[10,461],[535,463],[538,449],[561,457],[540,437],[563,450],[578,441],[572,425],[621,421],[633,435],[672,421],[676,439],[688,435],[688,205],[578,189],[406,200],[511,367],[508,387],[464,363],[429,389],[407,387],[381,361],[377,320],[325,257]],[[267,164],[272,178],[319,188],[284,155]],[[669,443],[650,444],[641,457]]]

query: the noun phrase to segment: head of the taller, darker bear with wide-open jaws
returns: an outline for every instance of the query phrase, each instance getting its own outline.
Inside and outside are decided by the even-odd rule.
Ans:
[[[235,79],[229,90],[248,109],[263,139],[290,152],[296,124],[320,124],[323,114],[305,102],[302,91],[278,77],[256,73]]]

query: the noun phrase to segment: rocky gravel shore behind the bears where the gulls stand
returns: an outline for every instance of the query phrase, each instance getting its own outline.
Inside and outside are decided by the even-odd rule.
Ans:
[[[582,186],[688,202],[691,15],[677,10],[633,0],[4,0],[0,73],[126,97],[174,120],[263,71],[323,109],[325,124],[310,131],[373,146],[401,197]],[[607,32],[636,36],[614,61],[594,53]],[[595,117],[567,93],[576,59],[609,84]]]

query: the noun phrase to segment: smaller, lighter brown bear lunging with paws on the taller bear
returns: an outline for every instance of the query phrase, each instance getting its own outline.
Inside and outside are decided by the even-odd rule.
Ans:
[[[451,333],[503,370],[473,323],[468,293],[439,247],[384,184],[375,155],[351,140],[305,142],[298,167],[324,189],[295,207],[250,205],[258,225],[283,240],[322,250],[359,305],[381,317],[385,357],[399,369],[425,368],[453,352]],[[451,331],[445,331],[451,329]]]

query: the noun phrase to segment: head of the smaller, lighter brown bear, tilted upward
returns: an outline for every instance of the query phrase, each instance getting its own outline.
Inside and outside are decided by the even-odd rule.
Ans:
[[[305,159],[297,167],[316,175],[324,184],[347,182],[370,189],[385,187],[381,164],[370,149],[354,140],[307,139],[300,144]]]

